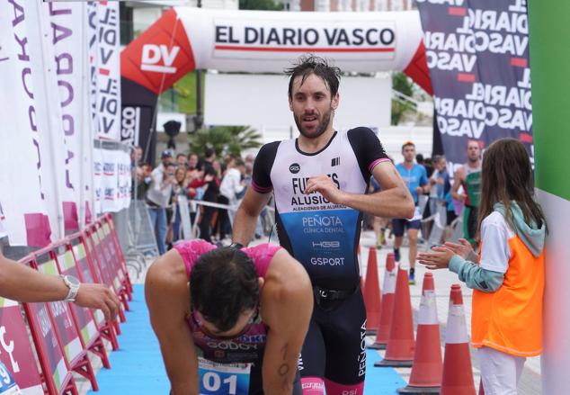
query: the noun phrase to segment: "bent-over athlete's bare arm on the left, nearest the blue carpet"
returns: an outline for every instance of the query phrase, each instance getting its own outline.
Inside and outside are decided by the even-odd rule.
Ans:
[[[145,296],[172,395],[198,395],[198,361],[185,321],[190,312],[190,290],[182,258],[175,250],[148,269]]]

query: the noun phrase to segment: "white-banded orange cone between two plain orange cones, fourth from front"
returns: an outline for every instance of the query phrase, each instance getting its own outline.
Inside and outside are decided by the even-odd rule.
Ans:
[[[394,292],[396,292],[396,265],[394,265],[394,253],[386,256],[386,270],[382,286],[382,302],[380,308],[380,324],[376,340],[369,348],[373,350],[385,350],[387,338],[390,337],[390,321],[394,308]]]

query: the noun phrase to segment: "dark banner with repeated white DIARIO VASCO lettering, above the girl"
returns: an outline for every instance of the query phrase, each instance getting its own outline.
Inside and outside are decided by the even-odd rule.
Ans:
[[[450,166],[466,161],[471,139],[483,147],[503,137],[520,139],[532,159],[526,1],[416,3]]]

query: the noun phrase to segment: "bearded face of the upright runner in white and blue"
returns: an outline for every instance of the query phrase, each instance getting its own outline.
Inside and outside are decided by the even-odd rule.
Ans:
[[[333,112],[338,106],[338,94],[331,92],[320,76],[311,74],[302,81],[293,80],[289,108],[293,112],[298,131],[307,139],[316,139],[333,128]]]

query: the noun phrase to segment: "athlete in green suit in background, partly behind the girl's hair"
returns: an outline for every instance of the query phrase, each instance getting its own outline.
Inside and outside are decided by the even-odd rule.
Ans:
[[[464,193],[459,193],[459,185]],[[468,161],[453,175],[451,197],[464,203],[463,235],[469,243],[475,244],[479,196],[481,195],[481,148],[474,141],[468,141]]]

